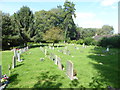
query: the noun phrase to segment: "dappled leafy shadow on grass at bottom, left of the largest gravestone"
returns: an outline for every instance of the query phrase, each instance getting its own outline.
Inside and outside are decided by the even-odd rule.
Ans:
[[[49,72],[41,73],[37,77],[38,82],[34,85],[34,88],[60,88],[62,83],[56,81],[58,78],[60,78],[60,75],[49,75]]]

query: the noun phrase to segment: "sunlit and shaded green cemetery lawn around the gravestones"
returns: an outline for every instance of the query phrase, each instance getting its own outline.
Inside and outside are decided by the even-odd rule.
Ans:
[[[58,47],[56,45],[59,45]],[[14,69],[11,68],[10,75],[8,65],[12,67],[13,51],[2,52],[2,74],[10,77],[7,88],[118,88],[120,49],[97,46],[87,46],[72,44],[55,44],[55,48],[50,49],[46,44],[41,45],[46,48],[48,55],[40,50],[40,45],[34,45],[27,52],[21,55],[23,62],[17,62]],[[63,54],[60,50],[69,50],[70,55]],[[61,58],[64,70],[60,70],[49,54],[53,53]],[[40,58],[44,58],[40,61]],[[77,80],[70,80],[66,75],[66,62],[71,60],[77,73]]]

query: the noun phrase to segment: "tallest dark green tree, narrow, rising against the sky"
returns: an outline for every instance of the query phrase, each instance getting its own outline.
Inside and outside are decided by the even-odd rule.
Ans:
[[[75,4],[66,0],[64,3],[64,29],[65,29],[65,38],[74,39],[76,37],[76,26],[73,20],[75,16]]]

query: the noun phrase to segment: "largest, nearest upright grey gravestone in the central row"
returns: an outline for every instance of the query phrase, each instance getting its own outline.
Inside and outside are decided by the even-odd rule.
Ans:
[[[67,61],[67,67],[66,67],[66,74],[67,76],[73,80],[73,63],[71,61]]]

